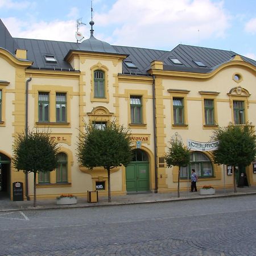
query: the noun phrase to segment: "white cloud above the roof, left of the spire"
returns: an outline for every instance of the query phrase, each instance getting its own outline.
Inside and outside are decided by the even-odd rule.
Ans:
[[[75,20],[52,20],[51,22],[29,23],[16,18],[2,19],[11,35],[16,38],[32,38],[44,40],[57,40],[76,42]],[[85,27],[80,27],[80,32],[85,32]]]

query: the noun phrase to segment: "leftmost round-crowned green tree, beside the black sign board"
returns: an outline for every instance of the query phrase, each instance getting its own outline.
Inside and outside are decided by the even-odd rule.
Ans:
[[[57,168],[59,147],[48,132],[28,131],[15,137],[13,166],[25,174],[34,173],[34,207],[36,207],[36,174]]]

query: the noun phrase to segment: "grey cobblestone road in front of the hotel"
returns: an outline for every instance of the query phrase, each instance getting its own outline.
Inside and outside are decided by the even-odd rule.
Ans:
[[[255,195],[0,213],[0,255],[256,255]]]

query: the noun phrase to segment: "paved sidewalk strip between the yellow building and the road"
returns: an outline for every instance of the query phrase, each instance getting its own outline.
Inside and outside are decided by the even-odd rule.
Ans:
[[[87,203],[86,198],[78,198],[77,204],[73,205],[56,205],[55,199],[37,200],[37,207],[33,207],[33,201],[10,201],[10,199],[2,199],[0,197],[0,212],[14,210],[37,210],[37,209],[60,209],[60,208],[81,208],[81,207],[99,207],[107,205],[126,205],[126,204],[143,204],[156,203],[166,201],[180,200],[200,200],[212,197],[227,197],[227,196],[245,196],[256,195],[256,186],[237,188],[237,193],[234,193],[234,188],[216,189],[215,195],[202,196],[200,192],[181,191],[180,197],[177,197],[177,192],[171,193],[144,193],[125,196],[112,196],[112,202],[108,203],[108,197],[99,197],[98,203]]]

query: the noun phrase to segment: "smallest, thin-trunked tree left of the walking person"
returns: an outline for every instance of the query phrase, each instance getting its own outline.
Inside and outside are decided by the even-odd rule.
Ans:
[[[180,197],[180,167],[185,167],[190,162],[190,152],[184,144],[176,138],[171,138],[171,147],[168,147],[168,152],[164,156],[167,167],[178,166],[178,184],[177,197]]]

